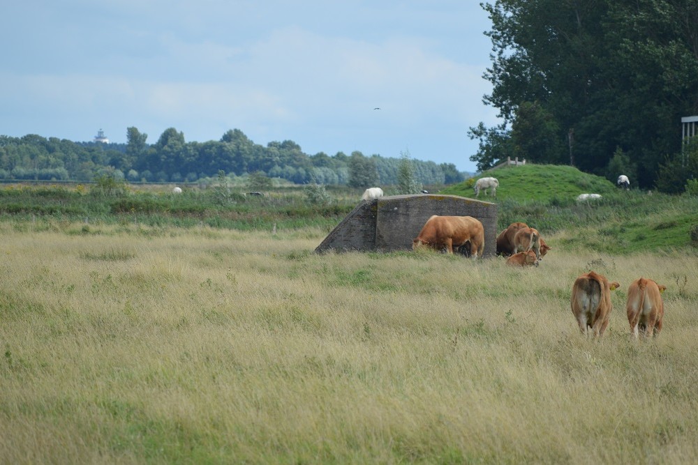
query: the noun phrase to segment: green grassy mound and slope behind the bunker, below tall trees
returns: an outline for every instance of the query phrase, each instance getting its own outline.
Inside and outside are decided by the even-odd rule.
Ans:
[[[439,193],[475,198],[473,185],[484,176],[499,181],[496,198],[482,192],[479,197],[498,204],[498,230],[523,221],[540,230],[552,247],[608,254],[698,254],[698,241],[691,234],[698,229],[698,197],[620,190],[606,178],[556,165],[496,169]],[[602,199],[577,202],[584,193]]]

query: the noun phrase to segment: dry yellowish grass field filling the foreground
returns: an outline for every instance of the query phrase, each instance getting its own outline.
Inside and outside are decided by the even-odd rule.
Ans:
[[[276,234],[0,224],[0,463],[662,463],[698,457],[698,259],[532,269]],[[600,342],[577,275],[621,282]],[[651,277],[664,330],[631,340]]]

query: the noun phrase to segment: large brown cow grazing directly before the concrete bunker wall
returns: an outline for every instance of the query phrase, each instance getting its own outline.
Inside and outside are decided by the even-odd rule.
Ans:
[[[422,231],[412,241],[413,250],[424,245],[436,250],[446,249],[452,254],[454,247],[470,242],[470,257],[482,257],[484,252],[484,227],[472,216],[438,216],[426,220]]]

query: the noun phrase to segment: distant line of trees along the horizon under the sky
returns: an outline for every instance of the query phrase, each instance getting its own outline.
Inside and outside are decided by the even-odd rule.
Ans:
[[[224,171],[235,176],[261,173],[298,184],[367,187],[399,183],[403,158],[367,157],[359,151],[307,155],[290,140],[261,146],[237,129],[209,142],[186,142],[174,128],[165,130],[155,144],[148,144],[147,134],[138,128],[128,128],[126,137],[126,144],[101,144],[0,136],[0,178],[91,181],[108,175],[128,181],[182,182]],[[410,162],[415,178],[424,184],[457,183],[466,176],[451,163]]]

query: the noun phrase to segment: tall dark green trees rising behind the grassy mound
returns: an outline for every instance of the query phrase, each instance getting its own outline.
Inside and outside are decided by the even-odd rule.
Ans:
[[[485,102],[503,123],[470,128],[479,169],[518,156],[647,188],[698,175],[680,155],[681,117],[698,114],[698,0],[482,6],[493,45]]]

